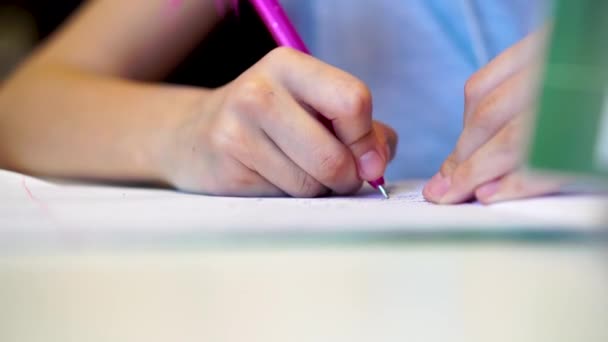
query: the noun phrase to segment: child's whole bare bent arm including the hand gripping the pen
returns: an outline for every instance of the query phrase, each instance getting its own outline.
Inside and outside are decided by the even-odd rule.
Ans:
[[[168,4],[93,1],[27,61],[0,91],[0,166],[231,195],[344,193],[383,173],[396,138],[372,125],[367,88],[309,56],[278,49],[216,90],[141,83],[218,19],[214,0]]]

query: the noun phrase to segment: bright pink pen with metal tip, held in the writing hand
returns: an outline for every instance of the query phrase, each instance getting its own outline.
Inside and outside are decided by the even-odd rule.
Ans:
[[[287,17],[283,7],[278,0],[249,0],[256,12],[272,34],[275,42],[279,46],[287,46],[292,49],[310,54],[304,41],[296,31],[295,27]],[[331,127],[331,126],[329,126]],[[388,192],[384,188],[384,177],[380,177],[369,184],[380,190],[384,198],[389,198]]]

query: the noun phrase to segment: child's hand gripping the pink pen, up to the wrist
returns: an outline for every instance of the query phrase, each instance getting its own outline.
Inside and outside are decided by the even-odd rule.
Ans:
[[[318,117],[331,120],[335,134]],[[312,197],[382,176],[396,134],[372,121],[367,87],[287,48],[211,91],[179,124],[168,181],[215,195]],[[389,146],[390,145],[390,146]]]

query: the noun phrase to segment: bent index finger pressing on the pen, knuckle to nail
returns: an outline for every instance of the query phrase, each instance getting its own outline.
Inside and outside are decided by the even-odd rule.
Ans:
[[[357,78],[317,59],[287,48],[267,57],[272,69],[299,102],[331,122],[336,137],[355,158],[359,176],[368,181],[384,173],[388,156],[372,125],[372,98]],[[298,71],[294,72],[294,65]]]

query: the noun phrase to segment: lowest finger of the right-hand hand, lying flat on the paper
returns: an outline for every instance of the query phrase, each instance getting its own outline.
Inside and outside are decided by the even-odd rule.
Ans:
[[[475,197],[482,203],[491,204],[555,193],[565,183],[564,179],[535,176],[518,170],[478,187]]]

